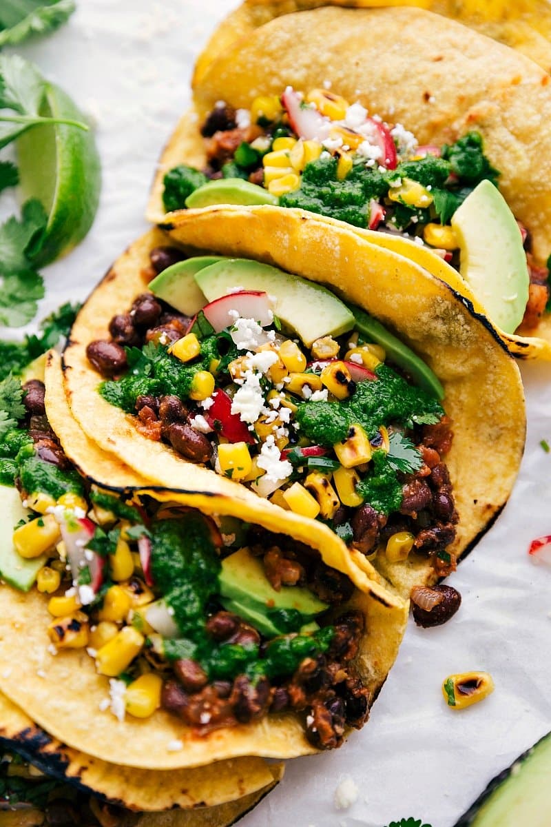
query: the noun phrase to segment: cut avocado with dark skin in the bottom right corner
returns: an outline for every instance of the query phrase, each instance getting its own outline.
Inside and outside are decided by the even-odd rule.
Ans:
[[[455,827],[549,827],[551,733],[500,772]]]

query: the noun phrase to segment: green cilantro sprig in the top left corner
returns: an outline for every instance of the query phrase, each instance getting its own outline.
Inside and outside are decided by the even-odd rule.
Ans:
[[[0,7],[0,48],[54,31],[74,12],[74,0],[11,0]]]

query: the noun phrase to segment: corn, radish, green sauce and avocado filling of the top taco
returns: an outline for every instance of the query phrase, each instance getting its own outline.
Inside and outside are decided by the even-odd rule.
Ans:
[[[534,330],[549,310],[549,267],[534,261],[529,232],[517,222],[519,232],[505,201],[482,184],[498,188],[500,173],[484,154],[478,132],[451,145],[420,146],[400,123],[387,124],[325,88],[306,96],[287,88],[281,98],[256,98],[250,110],[217,103],[201,132],[207,168],[169,170],[163,195],[167,210],[215,203],[305,209],[413,239],[456,270],[461,266],[506,332]],[[459,210],[467,199],[468,206]],[[497,267],[515,270],[506,296],[467,265],[468,256],[471,261],[478,256],[467,249],[473,236],[463,225],[467,221],[479,230],[494,218],[513,251],[506,265]],[[481,237],[484,255],[488,242],[500,245],[499,237]],[[490,292],[497,298],[489,299]]]

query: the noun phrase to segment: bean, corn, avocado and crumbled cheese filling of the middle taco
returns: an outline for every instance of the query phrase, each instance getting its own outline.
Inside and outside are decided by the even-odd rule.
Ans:
[[[98,392],[141,434],[323,521],[364,555],[416,551],[438,576],[454,570],[451,422],[439,380],[408,347],[329,290],[255,261],[192,258],[150,287],[157,297],[112,318],[111,341],[87,347],[105,377]]]

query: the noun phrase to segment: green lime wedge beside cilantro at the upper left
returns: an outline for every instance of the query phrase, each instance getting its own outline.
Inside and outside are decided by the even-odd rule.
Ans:
[[[40,114],[86,122],[55,84],[46,84]],[[18,139],[17,156],[23,197],[38,198],[48,214],[45,235],[33,256],[42,266],[68,253],[92,227],[102,182],[99,155],[91,130],[48,124]]]

